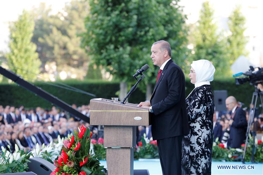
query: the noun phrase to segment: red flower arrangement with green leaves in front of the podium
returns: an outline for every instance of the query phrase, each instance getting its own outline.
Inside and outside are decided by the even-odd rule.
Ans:
[[[79,132],[75,130],[73,136],[64,140],[61,155],[54,161],[56,169],[50,175],[107,174],[97,156],[90,152],[91,137],[92,132],[82,125]]]

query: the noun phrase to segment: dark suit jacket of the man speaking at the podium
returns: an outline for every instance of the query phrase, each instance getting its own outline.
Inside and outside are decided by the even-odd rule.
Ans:
[[[154,113],[151,128],[153,140],[189,133],[184,73],[172,59],[162,70],[150,103]]]

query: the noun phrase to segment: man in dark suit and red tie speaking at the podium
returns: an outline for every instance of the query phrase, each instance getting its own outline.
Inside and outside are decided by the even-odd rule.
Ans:
[[[150,102],[138,106],[149,108],[152,136],[157,140],[162,174],[181,174],[181,145],[189,133],[185,103],[185,79],[181,68],[171,59],[171,46],[161,40],[151,47],[153,65],[160,67]]]

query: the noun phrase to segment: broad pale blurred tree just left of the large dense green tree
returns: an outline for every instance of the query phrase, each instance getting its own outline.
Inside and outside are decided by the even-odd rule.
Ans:
[[[44,25],[42,29],[47,32],[37,40],[44,48],[48,48],[45,50],[45,56],[49,61],[56,61],[59,71],[66,66],[86,67],[89,57],[80,47],[79,34],[85,31],[84,18],[89,11],[88,1],[71,1],[65,5],[65,13],[49,16],[48,11],[49,9],[42,13],[43,18],[39,23],[43,26],[44,20],[49,24],[49,28]],[[87,67],[85,69],[87,70]]]

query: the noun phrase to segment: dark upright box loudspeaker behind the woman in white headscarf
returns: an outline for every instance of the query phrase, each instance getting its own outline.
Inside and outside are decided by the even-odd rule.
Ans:
[[[215,111],[226,111],[227,90],[214,91]]]

